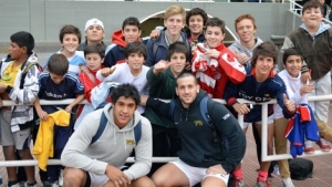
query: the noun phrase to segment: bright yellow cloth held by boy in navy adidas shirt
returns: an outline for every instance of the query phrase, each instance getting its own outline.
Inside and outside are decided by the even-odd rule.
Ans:
[[[71,115],[70,113],[60,110],[55,113],[49,114],[48,121],[40,121],[35,144],[33,147],[33,155],[38,159],[38,166],[42,170],[46,170],[49,157],[53,157],[53,127],[54,124],[59,126],[69,126]]]

